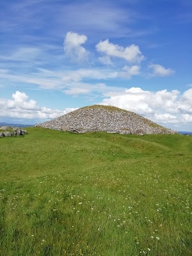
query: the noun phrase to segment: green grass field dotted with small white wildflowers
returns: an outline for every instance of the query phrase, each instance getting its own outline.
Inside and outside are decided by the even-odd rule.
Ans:
[[[0,139],[0,255],[192,255],[192,136]]]

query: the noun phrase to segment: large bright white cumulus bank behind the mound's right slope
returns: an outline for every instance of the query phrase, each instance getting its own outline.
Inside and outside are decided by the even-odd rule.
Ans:
[[[192,89],[180,95],[177,90],[149,92],[133,87],[108,92],[106,97],[101,104],[127,109],[160,124],[192,122]]]

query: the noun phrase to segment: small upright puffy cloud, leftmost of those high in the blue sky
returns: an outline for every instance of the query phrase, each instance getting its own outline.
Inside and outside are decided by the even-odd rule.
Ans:
[[[83,62],[88,60],[88,52],[84,49],[82,44],[87,40],[85,35],[78,35],[77,33],[68,32],[64,40],[64,51],[67,56],[74,62]]]

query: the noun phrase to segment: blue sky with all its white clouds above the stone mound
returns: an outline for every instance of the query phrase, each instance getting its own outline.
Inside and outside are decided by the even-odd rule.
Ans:
[[[191,0],[0,3],[0,122],[104,104],[192,131]]]

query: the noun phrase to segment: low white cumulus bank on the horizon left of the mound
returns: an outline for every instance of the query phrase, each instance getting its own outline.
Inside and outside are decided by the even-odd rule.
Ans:
[[[12,99],[0,99],[0,116],[50,119],[65,115],[76,109],[66,108],[62,111],[46,107],[40,108],[35,100],[28,100],[28,98],[26,93],[17,91],[12,94]]]

